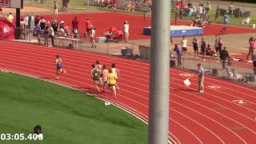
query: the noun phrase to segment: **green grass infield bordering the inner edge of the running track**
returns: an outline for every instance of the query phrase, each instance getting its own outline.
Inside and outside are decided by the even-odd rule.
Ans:
[[[42,141],[24,144],[142,144],[147,125],[115,106],[76,90],[36,78],[0,73],[0,134],[33,133]]]

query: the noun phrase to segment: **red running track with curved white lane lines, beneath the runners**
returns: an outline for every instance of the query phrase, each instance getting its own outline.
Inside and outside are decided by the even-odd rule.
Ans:
[[[117,101],[113,101],[148,118],[150,65],[147,62],[2,41],[0,67],[52,79],[55,77],[56,54],[62,56],[68,72],[59,82],[92,93],[95,90],[90,78],[91,64],[96,59],[107,66],[115,62],[121,70],[118,80],[121,91]],[[183,85],[185,77],[180,74],[186,73],[189,72],[170,70],[170,137],[182,144],[255,143],[256,89],[206,76],[206,92],[198,94],[196,77],[190,78],[190,87]],[[108,97],[109,94],[106,92],[101,96]]]

